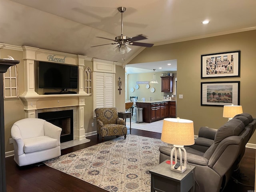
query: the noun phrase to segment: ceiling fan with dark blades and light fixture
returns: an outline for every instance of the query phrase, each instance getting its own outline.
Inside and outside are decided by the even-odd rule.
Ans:
[[[118,46],[116,46],[114,48],[114,51],[121,52],[122,54],[128,53],[131,50],[131,48],[129,48],[127,45],[134,45],[134,46],[141,46],[141,47],[152,47],[154,44],[136,42],[139,40],[147,39],[147,37],[142,34],[134,36],[134,37],[128,37],[128,36],[123,35],[123,12],[125,12],[126,8],[118,7],[117,10],[121,13],[121,35],[116,36],[115,40],[105,38],[105,37],[97,37],[97,38],[108,39],[108,40],[114,41],[114,43],[108,43],[108,44],[102,44],[102,45],[118,44]],[[91,47],[98,47],[98,46],[102,46],[102,45],[96,45],[96,46],[91,46]]]

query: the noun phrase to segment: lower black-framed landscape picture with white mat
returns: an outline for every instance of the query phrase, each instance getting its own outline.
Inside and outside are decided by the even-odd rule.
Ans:
[[[240,81],[201,82],[201,106],[240,105]]]

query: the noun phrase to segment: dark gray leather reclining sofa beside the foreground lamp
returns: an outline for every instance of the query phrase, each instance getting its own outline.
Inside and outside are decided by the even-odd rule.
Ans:
[[[255,128],[256,119],[246,113],[236,115],[218,130],[200,128],[195,144],[185,146],[188,164],[196,166],[196,192],[219,192],[226,186]],[[171,149],[159,148],[160,163],[170,159]]]

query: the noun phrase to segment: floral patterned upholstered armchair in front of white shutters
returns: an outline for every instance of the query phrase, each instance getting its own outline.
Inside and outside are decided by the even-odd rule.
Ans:
[[[125,121],[118,118],[116,108],[96,108],[97,135],[102,137],[102,141],[106,136],[121,136],[126,139],[127,127]]]

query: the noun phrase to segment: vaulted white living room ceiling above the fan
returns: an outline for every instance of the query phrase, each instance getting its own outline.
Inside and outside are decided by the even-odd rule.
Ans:
[[[96,36],[121,34],[120,6],[123,34],[147,35],[139,42],[155,46],[256,29],[256,0],[1,0],[0,42],[126,64],[144,48],[130,46],[124,56],[115,45],[91,48],[112,43]]]

